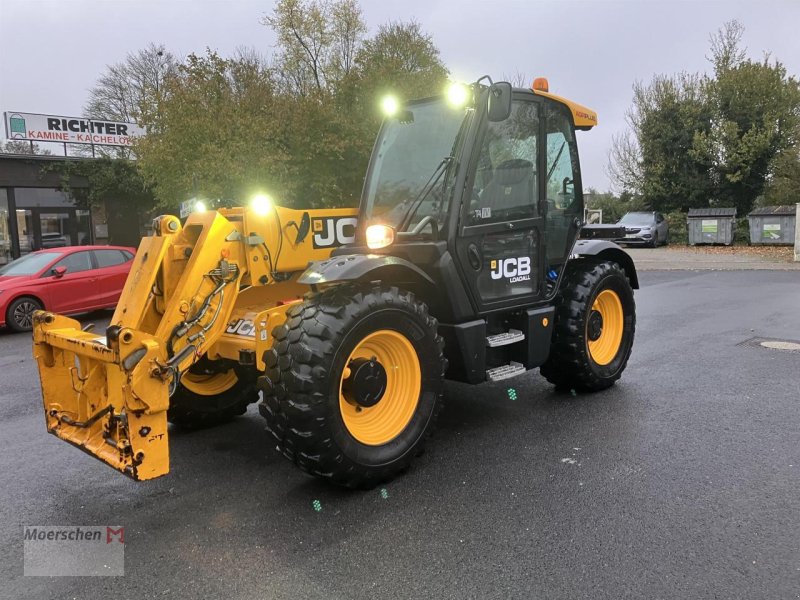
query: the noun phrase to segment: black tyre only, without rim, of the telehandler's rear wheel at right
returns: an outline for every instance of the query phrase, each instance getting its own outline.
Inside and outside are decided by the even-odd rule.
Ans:
[[[622,306],[622,336],[612,360],[598,364],[589,351],[589,317],[597,296],[613,291]],[[633,347],[636,305],[625,271],[615,262],[571,261],[557,300],[550,356],[540,368],[556,387],[598,391],[620,378]]]

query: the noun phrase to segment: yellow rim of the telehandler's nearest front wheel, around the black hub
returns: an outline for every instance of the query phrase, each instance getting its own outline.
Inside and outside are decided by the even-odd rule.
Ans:
[[[374,406],[359,406],[345,398],[342,385],[352,375],[354,359],[375,359],[386,371],[386,390]],[[414,346],[403,334],[381,329],[362,339],[345,362],[339,381],[339,409],[345,427],[367,446],[392,441],[408,426],[417,410],[422,372]]]

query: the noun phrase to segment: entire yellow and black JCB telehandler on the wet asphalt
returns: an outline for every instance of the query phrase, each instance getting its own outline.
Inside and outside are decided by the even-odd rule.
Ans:
[[[618,246],[579,239],[575,130],[596,114],[545,80],[484,80],[388,105],[358,211],[161,217],[104,337],[37,313],[48,430],[150,479],[168,420],[228,420],[260,389],[270,445],[364,487],[422,449],[445,378],[612,385],[638,283]]]

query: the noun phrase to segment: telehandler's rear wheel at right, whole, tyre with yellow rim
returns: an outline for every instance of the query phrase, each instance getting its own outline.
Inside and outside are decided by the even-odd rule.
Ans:
[[[568,265],[550,356],[541,373],[560,388],[602,390],[622,375],[633,347],[633,290],[614,262]]]

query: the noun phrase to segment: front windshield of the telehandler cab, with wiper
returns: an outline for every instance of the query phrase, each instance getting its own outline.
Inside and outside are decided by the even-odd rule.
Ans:
[[[434,99],[411,104],[384,122],[367,174],[368,225],[383,223],[399,228],[414,209],[406,228],[429,215],[441,222],[449,202],[449,194],[444,193],[449,178],[439,171],[452,170],[446,167],[454,161],[446,159],[454,152],[468,114],[467,109],[455,109],[442,99]],[[433,189],[414,207],[428,182],[435,184]]]

